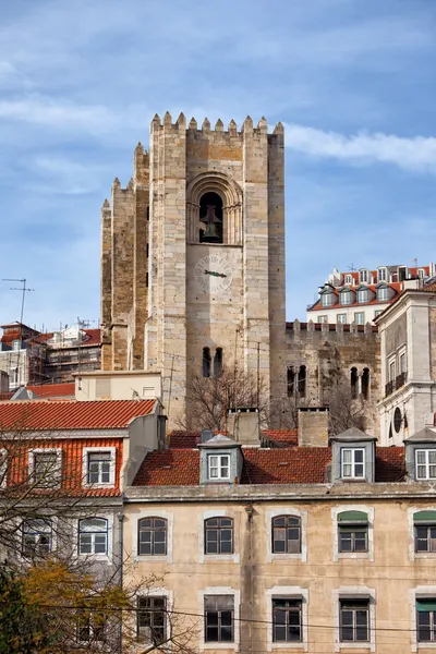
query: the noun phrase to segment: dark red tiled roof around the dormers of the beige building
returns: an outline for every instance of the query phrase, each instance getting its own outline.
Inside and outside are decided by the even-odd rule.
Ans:
[[[245,448],[241,484],[323,484],[331,460],[329,447]],[[375,481],[404,479],[404,448],[377,447]],[[148,453],[134,486],[196,486],[199,483],[199,451],[167,449]]]

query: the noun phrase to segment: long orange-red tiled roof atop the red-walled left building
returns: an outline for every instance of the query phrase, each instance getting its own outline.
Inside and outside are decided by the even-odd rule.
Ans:
[[[0,402],[0,431],[125,428],[133,417],[153,413],[155,400],[25,400]]]

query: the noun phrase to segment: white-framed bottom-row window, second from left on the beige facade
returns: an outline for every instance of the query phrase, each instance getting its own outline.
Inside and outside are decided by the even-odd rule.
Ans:
[[[198,614],[204,616],[199,650],[234,650],[240,644],[241,593],[231,586],[210,586],[198,592]]]

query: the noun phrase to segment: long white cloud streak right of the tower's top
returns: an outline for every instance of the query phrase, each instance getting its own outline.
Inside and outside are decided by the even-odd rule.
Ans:
[[[286,145],[317,158],[393,164],[404,170],[436,173],[436,138],[359,132],[347,136],[298,124],[286,125]]]

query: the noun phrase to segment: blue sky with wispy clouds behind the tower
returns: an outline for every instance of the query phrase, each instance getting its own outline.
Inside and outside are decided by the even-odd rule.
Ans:
[[[99,316],[100,206],[155,112],[286,126],[287,314],[337,266],[436,259],[433,0],[1,2],[0,277]],[[0,282],[0,319],[20,294]]]

